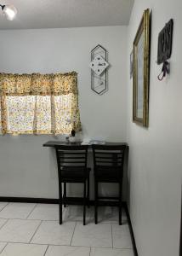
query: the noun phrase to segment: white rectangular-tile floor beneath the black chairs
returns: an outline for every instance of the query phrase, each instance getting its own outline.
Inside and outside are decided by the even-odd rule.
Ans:
[[[94,207],[63,209],[58,205],[0,202],[0,256],[134,256],[125,212],[118,225],[116,207],[100,207],[94,224]]]

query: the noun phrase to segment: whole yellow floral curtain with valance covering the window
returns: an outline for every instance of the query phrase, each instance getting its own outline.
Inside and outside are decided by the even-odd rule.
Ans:
[[[81,130],[77,73],[0,73],[3,134],[67,134]]]

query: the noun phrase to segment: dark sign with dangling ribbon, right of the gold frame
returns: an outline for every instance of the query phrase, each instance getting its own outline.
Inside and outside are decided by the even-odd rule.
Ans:
[[[170,65],[168,59],[171,57],[173,43],[173,19],[162,28],[158,35],[158,50],[157,50],[157,64],[162,65],[162,72],[158,75],[158,79],[162,81],[163,78],[170,72]]]

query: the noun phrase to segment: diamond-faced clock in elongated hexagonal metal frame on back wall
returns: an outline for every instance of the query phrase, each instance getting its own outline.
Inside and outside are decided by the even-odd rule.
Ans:
[[[98,44],[91,51],[91,89],[99,95],[108,90],[107,86],[107,50]]]

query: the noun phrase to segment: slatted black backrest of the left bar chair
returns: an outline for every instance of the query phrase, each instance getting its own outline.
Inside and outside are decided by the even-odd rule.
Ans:
[[[59,170],[71,168],[86,168],[88,158],[87,145],[55,146]]]

